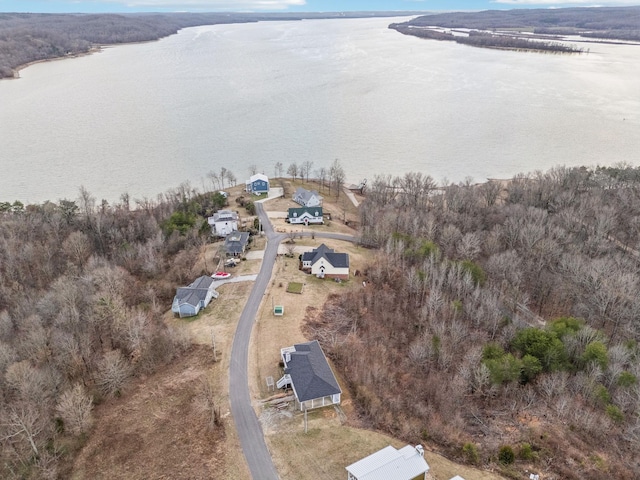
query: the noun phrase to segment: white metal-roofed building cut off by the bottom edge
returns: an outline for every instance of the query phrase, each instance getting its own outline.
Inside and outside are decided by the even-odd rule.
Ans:
[[[388,446],[346,468],[348,480],[425,480],[429,471],[422,445]]]

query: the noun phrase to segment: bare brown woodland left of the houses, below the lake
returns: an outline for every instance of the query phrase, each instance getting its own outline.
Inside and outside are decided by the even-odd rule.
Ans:
[[[93,407],[189,348],[163,315],[225,202],[0,202],[0,478],[68,478]]]

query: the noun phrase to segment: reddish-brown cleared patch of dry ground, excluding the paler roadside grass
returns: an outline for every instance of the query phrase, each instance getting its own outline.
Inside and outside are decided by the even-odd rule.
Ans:
[[[96,408],[96,426],[72,478],[227,478],[225,429],[209,429],[198,406],[213,368],[210,350],[179,361]]]

